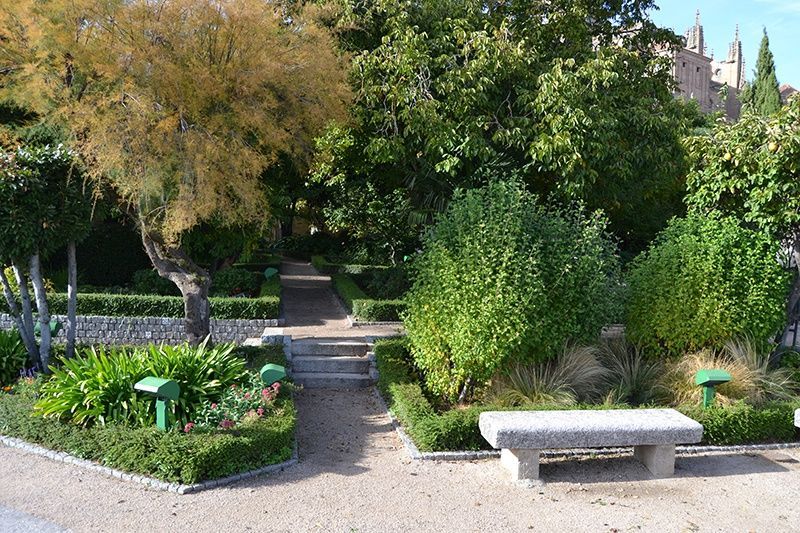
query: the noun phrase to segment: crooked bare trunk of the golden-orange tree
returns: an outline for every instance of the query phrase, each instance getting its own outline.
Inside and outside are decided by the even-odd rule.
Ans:
[[[183,295],[184,328],[189,344],[198,345],[211,335],[208,289],[211,277],[180,247],[165,244],[140,224],[142,243],[158,274],[173,282]]]

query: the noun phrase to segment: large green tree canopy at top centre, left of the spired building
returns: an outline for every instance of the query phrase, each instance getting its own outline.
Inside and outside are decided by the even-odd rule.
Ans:
[[[316,168],[334,208],[348,190],[400,190],[424,215],[500,166],[603,208],[634,246],[680,210],[691,113],[672,96],[659,50],[675,36],[648,19],[652,1],[340,3],[356,100]]]

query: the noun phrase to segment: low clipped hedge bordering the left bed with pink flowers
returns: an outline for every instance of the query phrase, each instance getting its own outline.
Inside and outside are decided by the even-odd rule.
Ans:
[[[279,398],[279,413],[231,430],[166,433],[123,425],[82,428],[32,416],[34,385],[0,394],[0,433],[131,473],[173,483],[197,483],[230,476],[291,457],[296,411],[290,393]]]

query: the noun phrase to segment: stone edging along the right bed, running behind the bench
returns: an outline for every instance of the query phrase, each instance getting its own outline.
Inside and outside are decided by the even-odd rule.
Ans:
[[[495,459],[500,457],[500,450],[463,450],[452,452],[421,452],[408,433],[405,432],[400,421],[389,411],[386,401],[380,391],[376,388],[375,397],[386,410],[386,414],[392,421],[397,435],[405,446],[408,456],[415,461],[476,461],[480,459]],[[785,450],[789,448],[800,448],[800,442],[778,442],[774,444],[742,444],[737,446],[676,446],[675,453],[680,455],[697,455],[701,453],[747,453],[765,450]],[[589,457],[619,455],[631,453],[632,447],[627,448],[574,448],[566,450],[542,450],[540,453],[544,457]]]

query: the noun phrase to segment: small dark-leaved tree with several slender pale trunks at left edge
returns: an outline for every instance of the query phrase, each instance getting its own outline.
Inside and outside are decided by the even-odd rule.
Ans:
[[[50,313],[41,272],[42,258],[65,242],[68,246],[67,354],[75,349],[77,274],[75,242],[90,227],[91,203],[73,154],[65,147],[25,146],[0,153],[0,262],[11,264],[19,292],[12,291],[0,269],[9,310],[29,358],[47,371],[50,357]],[[33,285],[41,342],[34,335]]]

